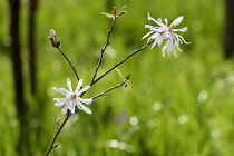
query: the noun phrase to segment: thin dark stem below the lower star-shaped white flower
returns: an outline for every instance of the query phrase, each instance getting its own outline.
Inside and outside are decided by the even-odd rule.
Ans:
[[[62,127],[64,127],[65,124],[68,121],[70,115],[71,115],[71,113],[68,111],[67,117],[65,118],[65,120],[62,121],[62,124],[58,127],[58,129],[57,129],[56,134],[53,135],[53,137],[52,137],[52,139],[51,139],[51,143],[50,143],[50,145],[49,145],[49,147],[48,147],[48,149],[47,149],[47,152],[45,153],[43,156],[48,156],[49,153],[50,153],[53,148],[56,148],[56,147],[58,146],[58,145],[55,145],[55,146],[53,146],[53,144],[55,144],[55,142],[56,142],[56,139],[57,139],[59,133],[61,131]]]

